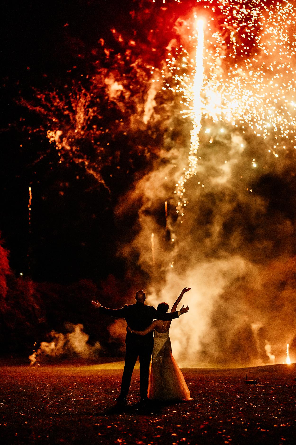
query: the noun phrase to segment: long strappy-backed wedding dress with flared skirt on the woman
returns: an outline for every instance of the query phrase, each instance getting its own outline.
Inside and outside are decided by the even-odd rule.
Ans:
[[[183,374],[172,355],[169,331],[154,330],[148,398],[162,401],[192,400]]]

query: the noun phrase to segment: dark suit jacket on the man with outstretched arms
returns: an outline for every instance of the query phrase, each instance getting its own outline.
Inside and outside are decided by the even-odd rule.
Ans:
[[[178,312],[168,312],[160,314],[155,307],[148,306],[144,303],[136,302],[135,304],[126,304],[121,309],[108,309],[107,307],[99,307],[102,314],[111,315],[115,318],[125,318],[127,325],[135,331],[144,331],[153,322],[157,320],[173,320],[178,318]],[[153,344],[152,331],[145,336],[131,334],[126,332],[126,344]]]

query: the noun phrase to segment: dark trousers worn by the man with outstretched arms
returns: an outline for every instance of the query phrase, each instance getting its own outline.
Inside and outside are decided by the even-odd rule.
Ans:
[[[147,398],[149,382],[149,365],[153,344],[126,344],[126,358],[122,374],[122,382],[119,397],[126,397],[130,389],[130,380],[137,358],[140,361],[140,395],[141,400]]]

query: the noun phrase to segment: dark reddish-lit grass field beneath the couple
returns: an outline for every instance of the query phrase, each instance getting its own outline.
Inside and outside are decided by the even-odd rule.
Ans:
[[[192,401],[139,410],[135,370],[120,413],[120,364],[2,366],[0,443],[295,444],[296,364],[183,373]]]

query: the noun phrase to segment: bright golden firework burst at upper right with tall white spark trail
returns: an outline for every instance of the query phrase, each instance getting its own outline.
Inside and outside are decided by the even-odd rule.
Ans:
[[[172,82],[164,81],[182,96],[181,113],[193,126],[189,166],[176,184],[177,213],[186,204],[185,182],[197,173],[202,119],[209,143],[217,133],[213,124],[224,123],[226,129],[218,130],[221,134],[237,129],[245,134],[249,129],[267,139],[264,147],[276,157],[281,149],[296,148],[295,7],[288,1],[267,5],[253,0],[248,6],[242,0],[197,3],[204,3],[209,16],[204,49],[200,24],[189,36],[197,39],[195,58],[179,45],[167,59]],[[257,166],[255,158],[252,165]]]

